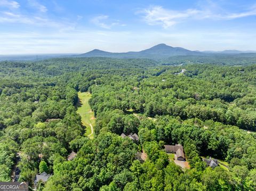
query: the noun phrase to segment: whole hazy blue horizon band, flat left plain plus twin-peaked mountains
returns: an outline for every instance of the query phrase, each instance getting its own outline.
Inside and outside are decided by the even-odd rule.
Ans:
[[[249,54],[251,53],[251,54]],[[190,51],[181,47],[158,44],[139,52],[112,53],[94,49],[84,54],[44,54],[44,55],[0,55],[0,60],[44,60],[53,57],[111,57],[115,59],[154,59],[162,60],[172,56],[256,56],[256,51]]]

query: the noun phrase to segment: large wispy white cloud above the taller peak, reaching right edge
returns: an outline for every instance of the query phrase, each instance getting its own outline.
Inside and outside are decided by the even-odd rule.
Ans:
[[[176,11],[164,9],[162,6],[150,6],[137,13],[142,14],[143,20],[145,20],[149,25],[161,25],[163,28],[169,28],[174,24],[185,20],[231,20],[256,15],[256,6],[252,6],[251,9],[247,9],[239,13],[227,13],[225,10],[215,10],[215,7],[215,4],[209,4],[207,9],[187,9],[185,11]]]

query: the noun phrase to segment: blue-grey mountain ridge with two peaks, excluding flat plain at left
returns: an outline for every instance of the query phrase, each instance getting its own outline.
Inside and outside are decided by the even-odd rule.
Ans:
[[[94,49],[93,51],[77,55],[78,57],[113,57],[113,58],[147,58],[147,59],[165,59],[171,56],[211,56],[212,54],[242,54],[242,53],[256,53],[255,51],[190,51],[181,47],[172,47],[166,44],[158,44],[151,48],[139,52],[126,52],[126,53],[111,53]]]

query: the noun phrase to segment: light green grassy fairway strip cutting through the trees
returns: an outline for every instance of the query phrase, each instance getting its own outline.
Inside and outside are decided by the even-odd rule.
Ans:
[[[86,127],[85,136],[93,138],[92,128],[95,126],[94,114],[88,103],[92,95],[88,92],[78,92],[79,102],[77,104],[77,113],[82,118],[82,124]]]

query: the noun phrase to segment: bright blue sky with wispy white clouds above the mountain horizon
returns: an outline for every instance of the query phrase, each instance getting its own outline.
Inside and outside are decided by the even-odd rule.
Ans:
[[[255,21],[255,0],[0,0],[0,55],[256,50]]]

